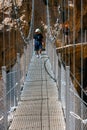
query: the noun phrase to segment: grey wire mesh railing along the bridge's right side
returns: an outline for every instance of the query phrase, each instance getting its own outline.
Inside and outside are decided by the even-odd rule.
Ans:
[[[48,55],[59,90],[59,99],[62,103],[67,130],[87,129],[87,102],[78,94],[75,84],[87,97],[79,81],[70,72],[70,67],[62,62],[60,53],[56,53],[55,44],[48,41]],[[68,71],[68,72],[67,72]],[[74,81],[72,81],[74,79]],[[82,113],[83,112],[83,113]]]

